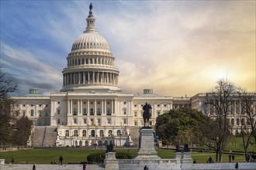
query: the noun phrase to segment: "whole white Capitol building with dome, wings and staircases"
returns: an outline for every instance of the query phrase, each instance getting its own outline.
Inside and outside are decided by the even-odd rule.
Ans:
[[[192,107],[210,115],[209,108],[203,105],[205,93],[193,97],[159,96],[152,89],[144,89],[140,94],[123,93],[118,86],[115,57],[109,43],[95,29],[92,9],[86,21],[85,31],[74,40],[67,55],[61,91],[43,96],[39,90],[30,89],[25,96],[12,97],[17,101],[13,114],[33,121],[29,145],[137,145],[146,102],[152,107],[151,126],[157,116],[180,107]],[[228,117],[236,131],[240,105],[230,110]]]

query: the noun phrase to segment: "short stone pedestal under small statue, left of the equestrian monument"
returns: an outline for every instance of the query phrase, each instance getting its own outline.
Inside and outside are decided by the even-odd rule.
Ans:
[[[104,163],[105,163],[105,169],[109,169],[109,170],[119,169],[118,160],[116,159],[116,152],[106,152]]]

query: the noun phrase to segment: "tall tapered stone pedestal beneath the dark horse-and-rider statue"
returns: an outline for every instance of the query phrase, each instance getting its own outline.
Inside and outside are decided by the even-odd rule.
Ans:
[[[154,149],[154,130],[151,128],[140,129],[140,148],[135,159],[161,159]]]

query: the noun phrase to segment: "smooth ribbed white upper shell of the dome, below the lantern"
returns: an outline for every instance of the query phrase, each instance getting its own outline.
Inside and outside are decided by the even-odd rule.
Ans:
[[[98,32],[84,32],[74,41],[71,51],[78,49],[103,49],[110,52],[109,43]]]

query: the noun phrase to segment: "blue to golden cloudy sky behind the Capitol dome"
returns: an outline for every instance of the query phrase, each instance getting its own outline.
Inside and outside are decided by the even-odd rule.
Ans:
[[[206,93],[217,80],[256,92],[256,1],[0,1],[1,67],[19,95],[62,87],[74,40],[95,26],[109,42],[125,93]]]

